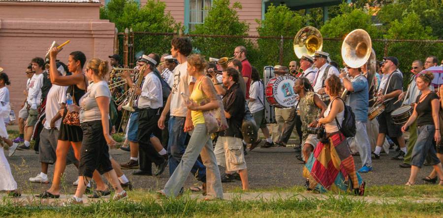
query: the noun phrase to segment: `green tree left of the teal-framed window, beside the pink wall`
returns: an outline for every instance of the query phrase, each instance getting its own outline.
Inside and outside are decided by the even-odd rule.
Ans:
[[[180,24],[176,24],[169,12],[165,13],[166,4],[159,0],[147,0],[140,7],[134,0],[111,0],[100,10],[100,18],[109,19],[115,23],[120,32],[125,28],[133,31],[146,32],[176,32]],[[159,53],[169,51],[172,36],[153,36],[135,34],[135,51],[143,53]],[[123,45],[122,41],[120,45]],[[120,49],[123,51],[123,48]]]

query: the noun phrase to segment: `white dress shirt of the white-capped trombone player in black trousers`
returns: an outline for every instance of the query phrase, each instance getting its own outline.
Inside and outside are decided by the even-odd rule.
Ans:
[[[161,90],[160,79],[154,72],[148,73],[145,76],[141,88],[141,95],[138,98],[138,109],[158,109],[163,107],[163,92]]]

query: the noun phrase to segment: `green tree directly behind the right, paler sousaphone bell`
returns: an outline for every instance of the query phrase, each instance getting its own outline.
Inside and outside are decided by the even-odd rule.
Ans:
[[[380,31],[373,26],[371,15],[361,9],[353,9],[350,13],[343,13],[326,22],[320,28],[323,38],[339,38],[344,39],[346,35],[354,29],[366,30],[372,39],[380,38]],[[327,40],[323,43],[323,51],[330,54],[332,60],[339,65],[342,64],[341,47],[343,41]],[[382,44],[373,42],[373,48],[376,54],[382,51]]]

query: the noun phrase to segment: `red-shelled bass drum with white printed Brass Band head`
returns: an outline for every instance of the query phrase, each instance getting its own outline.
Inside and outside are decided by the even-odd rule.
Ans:
[[[291,75],[274,77],[266,83],[265,96],[271,106],[290,108],[297,102],[293,86],[297,79]]]

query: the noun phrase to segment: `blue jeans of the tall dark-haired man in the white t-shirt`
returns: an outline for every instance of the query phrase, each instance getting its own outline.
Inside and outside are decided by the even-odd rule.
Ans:
[[[169,162],[169,175],[172,176],[177,168],[182,156],[186,151],[187,145],[185,144],[187,133],[183,130],[185,128],[186,117],[171,116],[168,122],[168,162]],[[191,173],[196,176],[199,181],[206,182],[206,167],[199,161],[195,161],[192,166]]]

